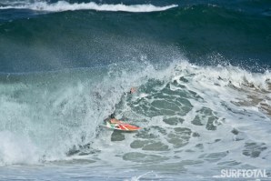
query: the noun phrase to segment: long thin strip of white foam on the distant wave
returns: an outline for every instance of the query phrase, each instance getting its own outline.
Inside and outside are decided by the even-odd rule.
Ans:
[[[156,12],[156,11],[166,11],[167,9],[176,7],[177,5],[166,5],[166,6],[156,6],[156,5],[98,5],[94,2],[90,3],[75,3],[70,4],[65,1],[58,1],[54,4],[48,4],[46,2],[35,2],[34,4],[28,5],[7,5],[0,6],[0,9],[31,9],[35,11],[47,11],[47,12],[63,12],[63,11],[75,11],[75,10],[96,10],[96,11],[123,11],[132,13],[144,13],[144,12]]]

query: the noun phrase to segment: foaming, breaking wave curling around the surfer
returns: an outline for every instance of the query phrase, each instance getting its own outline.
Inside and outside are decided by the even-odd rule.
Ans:
[[[133,66],[2,77],[1,165],[80,156],[114,165],[121,155],[118,164],[171,166],[183,152],[193,166],[231,160],[268,167],[269,72],[186,61]],[[131,86],[137,92],[125,96]],[[123,135],[99,127],[114,111],[144,129]]]

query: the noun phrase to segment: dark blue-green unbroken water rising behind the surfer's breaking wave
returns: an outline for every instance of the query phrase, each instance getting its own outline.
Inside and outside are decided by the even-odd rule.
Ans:
[[[178,6],[147,13],[3,9],[0,71],[92,67],[140,60],[142,55],[151,62],[165,62],[170,60],[164,57],[176,51],[199,65],[214,65],[220,59],[222,65],[257,72],[269,67],[269,1],[147,2],[151,3]]]

